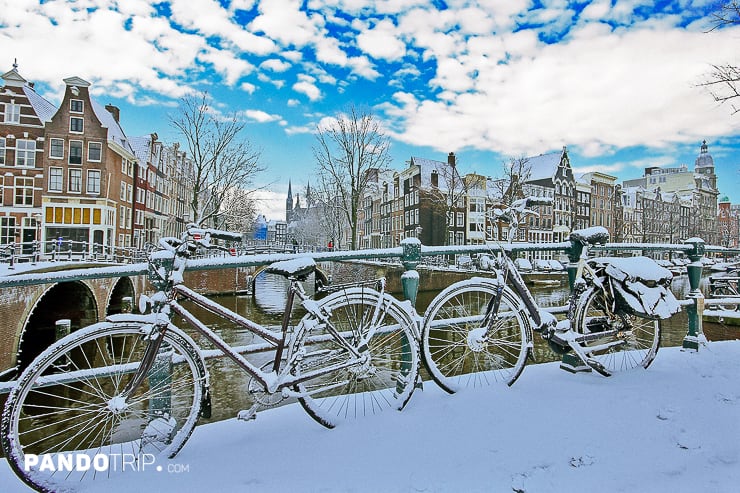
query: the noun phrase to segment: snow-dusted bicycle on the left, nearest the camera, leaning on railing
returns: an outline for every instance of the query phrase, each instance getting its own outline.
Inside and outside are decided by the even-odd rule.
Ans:
[[[107,477],[122,461],[152,467],[158,458],[178,453],[198,418],[211,411],[203,352],[175,325],[178,320],[249,374],[245,391],[254,405],[241,411],[240,419],[289,398],[330,428],[405,406],[419,369],[417,329],[409,309],[384,293],[384,282],[379,289],[368,283],[340,286],[314,301],[301,284],[315,269],[313,259],[275,262],[267,271],[285,276],[290,288],[282,326],[270,329],[183,283],[192,252],[222,248],[214,239],[241,236],[190,227],[182,238],[160,240],[160,248],[148,255],[154,294],[139,303],[147,314],[112,315],[75,331],[21,374],[3,411],[0,441],[24,482],[42,491],[66,491],[80,481]],[[306,315],[291,325],[296,298]],[[269,362],[247,359],[180,299],[251,331],[263,350],[272,351]],[[87,468],[78,467],[80,457]]]

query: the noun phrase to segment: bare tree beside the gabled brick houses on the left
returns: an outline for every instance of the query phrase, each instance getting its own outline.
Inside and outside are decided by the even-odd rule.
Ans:
[[[245,122],[236,114],[223,117],[213,110],[208,94],[200,93],[182,98],[170,123],[185,139],[185,150],[193,161],[189,205],[194,222],[203,224],[223,214],[229,197],[248,197],[244,192],[264,168],[259,164],[260,153],[239,138]]]

